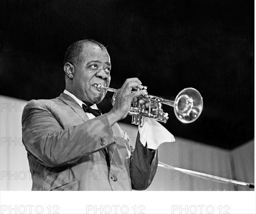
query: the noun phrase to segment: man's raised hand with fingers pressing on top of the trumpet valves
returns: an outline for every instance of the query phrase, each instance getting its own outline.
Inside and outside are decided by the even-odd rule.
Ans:
[[[135,91],[132,91],[132,89]],[[115,106],[107,113],[111,126],[117,121],[124,119],[131,108],[131,104],[137,101],[137,97],[147,92],[145,89],[138,89],[142,89],[141,82],[138,78],[135,77],[125,80],[125,83],[116,95]]]

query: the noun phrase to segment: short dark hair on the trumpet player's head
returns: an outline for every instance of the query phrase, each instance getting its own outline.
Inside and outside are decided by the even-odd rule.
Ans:
[[[82,51],[84,47],[84,43],[93,43],[98,45],[102,50],[107,50],[102,43],[99,43],[93,39],[84,39],[74,42],[72,45],[70,45],[66,51],[63,66],[66,63],[71,63],[72,65],[75,63],[81,63],[82,62]]]

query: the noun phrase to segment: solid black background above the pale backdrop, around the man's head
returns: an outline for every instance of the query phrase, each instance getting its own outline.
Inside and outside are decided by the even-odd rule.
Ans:
[[[111,56],[111,87],[138,77],[148,93],[174,100],[194,87],[201,117],[180,123],[165,106],[175,136],[235,148],[254,137],[253,0],[1,0],[1,93],[57,97],[62,61],[76,40],[93,38]],[[111,109],[112,93],[99,105]],[[130,123],[128,116],[125,122]]]

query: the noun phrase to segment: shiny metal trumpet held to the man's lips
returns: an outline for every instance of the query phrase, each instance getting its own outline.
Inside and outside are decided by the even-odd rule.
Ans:
[[[111,91],[114,92],[112,97],[112,105],[115,106],[116,94],[119,89],[105,87],[102,84],[97,86],[99,91]],[[147,86],[143,86],[142,89],[147,89]],[[132,104],[128,114],[132,116],[132,124],[143,126],[145,123],[145,117],[153,118],[159,122],[166,123],[169,119],[168,113],[162,109],[162,104],[172,106],[174,108],[175,116],[182,123],[192,123],[198,119],[203,110],[203,97],[195,88],[184,88],[176,96],[175,100],[166,100],[162,97],[149,95],[145,93],[138,97],[148,102],[148,108],[145,105],[135,102]]]

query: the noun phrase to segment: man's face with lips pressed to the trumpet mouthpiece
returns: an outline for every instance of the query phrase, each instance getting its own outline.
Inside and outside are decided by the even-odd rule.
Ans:
[[[98,91],[97,85],[109,86],[110,57],[108,52],[93,44],[84,44],[81,63],[74,65],[73,94],[88,103],[100,103],[107,91]]]

